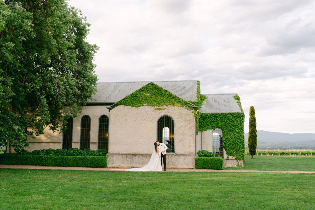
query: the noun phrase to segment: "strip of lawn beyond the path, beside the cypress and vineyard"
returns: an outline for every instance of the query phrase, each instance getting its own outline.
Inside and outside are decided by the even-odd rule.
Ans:
[[[315,171],[315,157],[306,156],[245,156],[244,167],[229,167],[224,170],[264,171]]]

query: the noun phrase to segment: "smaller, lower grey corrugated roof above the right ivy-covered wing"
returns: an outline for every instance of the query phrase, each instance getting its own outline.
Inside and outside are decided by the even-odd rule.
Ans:
[[[233,98],[236,94],[203,94],[208,98],[201,106],[201,113],[229,113],[240,112],[237,101]]]

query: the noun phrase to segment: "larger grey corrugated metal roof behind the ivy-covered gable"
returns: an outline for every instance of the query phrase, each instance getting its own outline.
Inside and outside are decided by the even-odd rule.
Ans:
[[[186,101],[197,100],[197,80],[145,81],[145,82],[98,82],[97,92],[92,97],[97,101],[89,103],[116,103],[146,84],[153,82]]]

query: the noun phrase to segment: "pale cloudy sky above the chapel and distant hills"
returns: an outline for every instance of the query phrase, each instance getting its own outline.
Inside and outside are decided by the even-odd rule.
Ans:
[[[248,132],[315,133],[315,1],[71,0],[99,82],[200,80],[238,93]]]

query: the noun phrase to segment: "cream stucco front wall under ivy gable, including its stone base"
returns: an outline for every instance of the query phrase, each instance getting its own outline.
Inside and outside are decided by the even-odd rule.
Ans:
[[[155,108],[121,105],[110,111],[108,167],[145,165],[157,140],[157,120],[164,115],[171,116],[175,123],[175,154],[167,155],[167,167],[194,167],[194,114],[177,106],[165,107],[164,110]]]

